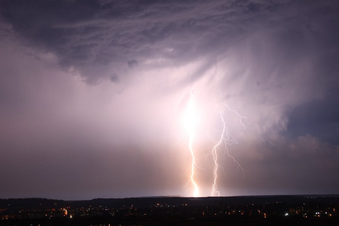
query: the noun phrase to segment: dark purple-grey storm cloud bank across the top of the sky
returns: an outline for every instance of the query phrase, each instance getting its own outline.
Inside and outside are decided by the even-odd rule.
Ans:
[[[287,50],[300,50],[304,30],[315,29],[315,35],[323,38],[326,25],[326,30],[338,33],[331,17],[337,10],[333,5],[331,1],[2,1],[1,15],[29,44],[52,51],[60,65],[74,66],[88,82],[95,82],[106,75],[89,67],[124,62],[132,67],[157,58],[164,61],[153,66],[186,64],[223,54],[263,29],[277,29],[278,42]],[[298,57],[298,51],[294,53],[290,60]]]

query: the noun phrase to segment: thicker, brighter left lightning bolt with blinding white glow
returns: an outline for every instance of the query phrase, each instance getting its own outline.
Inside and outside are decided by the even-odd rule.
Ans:
[[[194,151],[193,151],[193,140],[194,140],[194,132],[196,130],[196,125],[197,125],[197,116],[196,116],[196,110],[194,107],[194,99],[193,99],[193,88],[191,88],[191,98],[190,101],[188,102],[188,106],[186,108],[185,112],[185,127],[189,136],[189,143],[188,143],[188,149],[190,150],[191,156],[192,156],[192,164],[191,164],[191,179],[190,181],[192,182],[194,186],[194,192],[193,196],[198,197],[199,196],[199,188],[197,183],[195,182],[195,174],[196,174],[196,162],[195,162],[195,156],[194,156]],[[189,182],[189,181],[188,181]],[[188,183],[187,182],[187,183]]]

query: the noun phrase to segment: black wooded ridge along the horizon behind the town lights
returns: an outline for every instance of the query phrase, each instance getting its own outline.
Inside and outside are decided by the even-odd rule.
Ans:
[[[311,198],[312,197],[312,198]],[[88,206],[106,206],[108,208],[122,208],[123,206],[135,206],[138,208],[149,208],[160,205],[189,205],[189,206],[219,206],[219,205],[249,205],[280,202],[286,204],[297,203],[338,203],[339,196],[335,195],[310,195],[310,196],[238,196],[238,197],[144,197],[144,198],[123,198],[123,199],[92,199],[81,201],[64,201],[45,198],[24,198],[24,199],[0,199],[0,208],[81,208]]]

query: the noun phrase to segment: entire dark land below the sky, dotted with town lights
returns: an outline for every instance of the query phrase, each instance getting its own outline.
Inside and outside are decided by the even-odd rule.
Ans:
[[[0,199],[0,225],[339,225],[339,196]]]

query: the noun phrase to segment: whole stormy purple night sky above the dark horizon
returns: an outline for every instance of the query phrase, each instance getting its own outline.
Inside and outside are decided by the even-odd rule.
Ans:
[[[338,15],[0,1],[0,198],[339,193]]]

